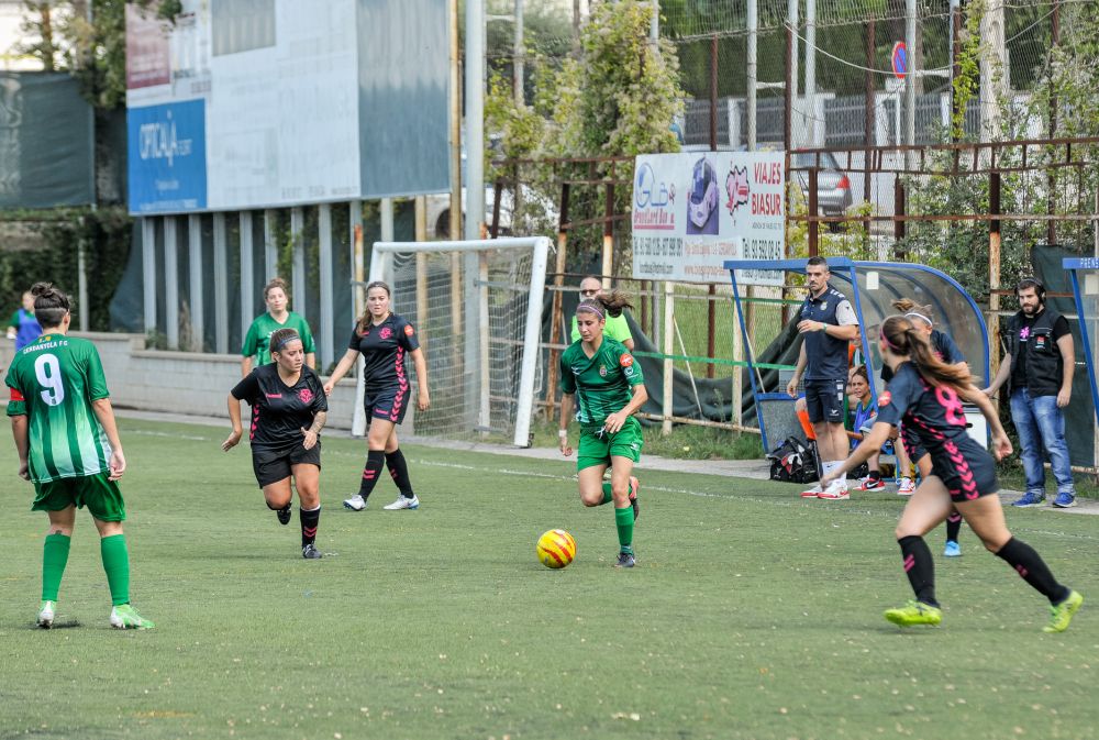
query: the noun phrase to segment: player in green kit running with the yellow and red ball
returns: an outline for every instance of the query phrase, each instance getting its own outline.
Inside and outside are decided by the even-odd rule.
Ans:
[[[633,567],[633,522],[637,519],[639,483],[633,473],[641,460],[641,424],[633,413],[648,399],[641,367],[625,346],[603,334],[608,317],[632,308],[614,290],[580,301],[576,308],[579,341],[560,356],[560,452],[573,454],[568,420],[576,406],[580,444],[576,470],[580,500],[585,506],[614,502],[619,556],[615,567]],[[611,468],[610,483],[603,473]]]

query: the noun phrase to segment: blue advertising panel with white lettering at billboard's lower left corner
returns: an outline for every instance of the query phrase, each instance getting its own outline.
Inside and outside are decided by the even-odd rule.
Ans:
[[[131,213],[204,209],[206,101],[130,108],[126,159]]]

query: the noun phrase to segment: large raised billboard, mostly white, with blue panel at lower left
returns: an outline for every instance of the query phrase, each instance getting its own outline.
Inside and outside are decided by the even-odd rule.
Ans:
[[[182,0],[181,7],[166,24],[156,3],[144,13],[126,5],[129,148],[173,152],[170,165],[159,154],[132,161],[132,213],[448,188],[443,0]],[[196,111],[202,125],[190,118]],[[169,112],[177,135],[180,117],[187,120],[177,143],[201,144],[193,148],[206,157],[201,166],[182,162],[188,178],[206,178],[201,187],[177,177],[175,150],[149,137],[157,125],[170,129]]]

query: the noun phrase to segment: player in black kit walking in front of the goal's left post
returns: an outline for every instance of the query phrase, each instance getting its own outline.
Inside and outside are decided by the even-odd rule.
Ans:
[[[404,419],[408,410],[410,387],[408,358],[415,365],[419,393],[417,408],[426,411],[431,404],[428,396],[428,363],[424,361],[415,329],[406,319],[389,310],[389,286],[375,280],[366,286],[366,313],[355,324],[347,344],[347,352],[324,384],[324,393],[332,393],[336,383],[347,374],[359,355],[363,355],[363,379],[366,390],[363,406],[370,426],[367,438],[366,466],[358,493],[344,501],[352,511],[366,508],[367,499],[378,483],[381,466],[389,466],[389,474],[400,496],[385,508],[418,509],[420,499],[412,490],[408,464],[397,443],[397,424]]]

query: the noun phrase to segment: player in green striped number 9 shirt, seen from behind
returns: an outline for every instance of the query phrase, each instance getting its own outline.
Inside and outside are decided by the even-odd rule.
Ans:
[[[130,604],[130,556],[122,522],[125,502],[119,478],[126,470],[103,365],[96,345],[66,336],[69,299],[38,283],[34,313],[43,333],[15,355],[5,382],[20,477],[34,483],[31,507],[49,517],[42,555],[42,604],[37,623],[49,628],[68,562],[78,507],[88,507],[99,530],[99,551],[111,589],[111,627],[149,629]]]

